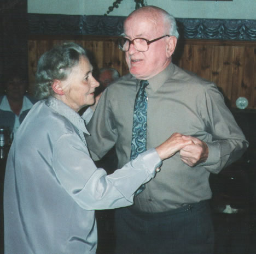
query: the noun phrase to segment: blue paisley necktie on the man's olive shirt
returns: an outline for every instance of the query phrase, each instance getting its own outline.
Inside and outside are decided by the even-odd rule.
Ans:
[[[145,91],[147,86],[148,81],[141,80],[135,99],[130,161],[147,150],[147,93]],[[135,192],[135,195],[139,195],[144,189],[145,185],[143,184]]]

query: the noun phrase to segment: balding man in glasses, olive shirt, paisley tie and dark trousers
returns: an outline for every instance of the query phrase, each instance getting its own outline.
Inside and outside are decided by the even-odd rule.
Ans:
[[[115,253],[213,253],[208,177],[248,147],[216,85],[171,62],[177,39],[165,10],[133,11],[119,41],[130,74],[103,92],[88,126],[93,158],[115,144],[119,167],[173,132],[193,141],[116,211]]]

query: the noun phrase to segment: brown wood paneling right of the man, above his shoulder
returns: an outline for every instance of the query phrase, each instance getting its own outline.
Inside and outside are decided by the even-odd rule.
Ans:
[[[186,40],[178,65],[216,83],[229,106],[244,96],[256,108],[255,55],[256,41]]]

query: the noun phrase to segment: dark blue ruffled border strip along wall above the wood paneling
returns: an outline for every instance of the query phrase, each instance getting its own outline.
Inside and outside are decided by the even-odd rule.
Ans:
[[[124,16],[28,14],[30,34],[120,35]],[[181,19],[185,39],[256,40],[256,20]]]

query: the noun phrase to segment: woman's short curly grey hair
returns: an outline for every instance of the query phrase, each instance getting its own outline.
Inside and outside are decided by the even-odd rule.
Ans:
[[[85,49],[75,43],[62,43],[45,52],[39,59],[34,96],[41,100],[54,95],[54,80],[66,80],[80,57],[87,57]]]

